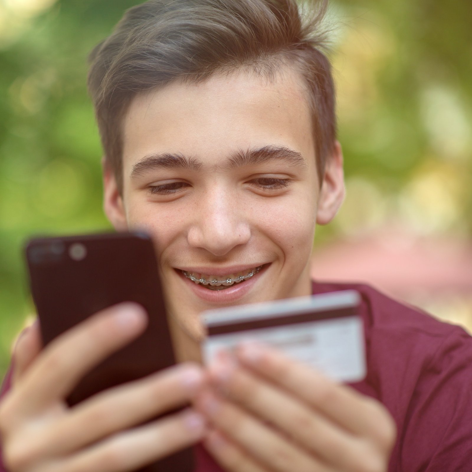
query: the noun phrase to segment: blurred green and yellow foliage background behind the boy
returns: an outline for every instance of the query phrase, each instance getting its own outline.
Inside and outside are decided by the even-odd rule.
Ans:
[[[136,0],[0,0],[0,377],[31,320],[29,236],[110,228],[87,55]],[[346,202],[312,275],[472,329],[470,0],[331,2]]]

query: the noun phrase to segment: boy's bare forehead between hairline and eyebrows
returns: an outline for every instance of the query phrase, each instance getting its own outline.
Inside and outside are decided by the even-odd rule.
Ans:
[[[217,165],[235,150],[278,144],[314,161],[308,97],[303,79],[290,68],[270,79],[239,69],[137,95],[123,121],[125,175],[154,152],[180,152]]]

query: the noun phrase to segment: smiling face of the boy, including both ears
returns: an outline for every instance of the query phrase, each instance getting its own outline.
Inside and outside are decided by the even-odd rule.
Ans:
[[[311,294],[315,223],[344,186],[337,147],[320,193],[307,96],[289,69],[239,71],[139,95],[126,113],[123,195],[106,170],[105,210],[152,235],[169,312],[196,340],[203,310]]]

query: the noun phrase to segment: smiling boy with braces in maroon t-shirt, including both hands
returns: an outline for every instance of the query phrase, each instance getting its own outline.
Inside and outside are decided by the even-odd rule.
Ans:
[[[34,325],[0,403],[10,472],[131,471],[200,441],[198,472],[470,470],[471,338],[369,287],[310,280],[315,225],[344,197],[321,17],[302,25],[292,0],[153,0],[95,49],[105,212],[153,236],[193,363],[68,409],[67,392],[145,314],[112,307],[41,352]],[[228,286],[189,278],[251,271]],[[256,345],[199,366],[203,310],[345,288],[362,295],[364,381],[339,385]]]

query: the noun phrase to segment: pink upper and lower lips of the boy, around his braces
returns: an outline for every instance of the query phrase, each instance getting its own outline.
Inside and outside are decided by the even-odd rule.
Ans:
[[[241,298],[244,297],[251,289],[254,287],[254,285],[258,282],[258,280],[264,275],[265,271],[269,268],[269,264],[260,264],[263,265],[262,269],[257,273],[254,274],[253,277],[245,280],[244,282],[241,283],[235,283],[234,285],[225,288],[224,290],[209,290],[208,288],[203,287],[201,284],[196,284],[195,282],[192,282],[189,278],[185,277],[185,275],[181,272],[181,270],[176,269],[177,275],[181,278],[181,280],[193,291],[195,295],[197,295],[199,298],[204,300],[205,302],[212,303],[212,304],[228,304],[228,303],[233,303]],[[235,266],[236,267],[236,266]],[[234,270],[233,268],[230,268],[233,270],[233,272],[221,272],[220,274],[218,273],[211,273],[210,275],[226,275],[228,273],[235,273],[235,272],[240,272],[242,270],[245,270],[246,268],[248,269],[253,269],[254,267],[258,266],[237,266],[242,267],[240,270]],[[198,268],[200,269],[200,268]],[[183,269],[185,270],[185,269]],[[228,270],[228,268],[225,268],[225,270]],[[205,273],[205,272],[200,272],[200,270],[186,270],[187,272],[197,272],[197,273]]]

